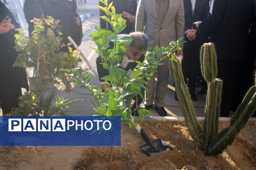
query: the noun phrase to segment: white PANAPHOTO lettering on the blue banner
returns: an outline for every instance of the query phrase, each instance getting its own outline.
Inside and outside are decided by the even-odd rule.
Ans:
[[[96,130],[100,126],[104,130],[111,129],[109,120],[66,120],[66,119],[9,119],[9,132],[32,132],[32,131],[66,131],[72,127],[76,130]],[[67,127],[66,127],[67,125]]]

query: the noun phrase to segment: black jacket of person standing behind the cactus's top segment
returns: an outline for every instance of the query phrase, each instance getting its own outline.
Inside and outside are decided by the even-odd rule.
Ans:
[[[215,43],[219,60],[243,59],[255,11],[253,0],[215,0],[212,15],[200,25]]]

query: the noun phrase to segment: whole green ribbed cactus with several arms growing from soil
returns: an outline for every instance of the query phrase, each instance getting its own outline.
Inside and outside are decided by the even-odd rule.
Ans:
[[[236,135],[246,125],[250,116],[256,110],[256,86],[254,85],[247,92],[244,100],[231,118],[229,127],[218,133],[222,80],[216,79],[217,57],[214,44],[203,44],[201,47],[201,70],[204,79],[208,82],[208,91],[202,131],[195,117],[195,110],[184,82],[180,62],[177,62],[175,55],[172,55],[169,68],[176,85],[181,110],[192,139],[205,150],[206,155],[222,153],[236,139]]]

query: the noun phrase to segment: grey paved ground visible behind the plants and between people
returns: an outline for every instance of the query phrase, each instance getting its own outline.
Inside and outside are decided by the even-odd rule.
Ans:
[[[93,63],[94,67],[96,68],[96,57],[97,54],[95,51],[93,51],[90,47],[96,47],[93,41],[90,40],[90,32],[94,32],[95,26],[99,26],[99,9],[96,8],[96,5],[98,5],[97,0],[88,0],[87,1],[87,10],[89,12],[94,12],[94,16],[88,18],[87,20],[84,20],[82,23],[83,25],[83,42],[79,46],[81,51],[83,52],[84,56],[87,57],[87,59]],[[88,66],[85,62],[81,63],[81,67],[86,70],[88,69]],[[31,74],[31,70],[30,70]],[[89,70],[85,71],[85,74],[92,74],[92,72]],[[99,80],[93,76],[90,83],[92,85],[99,86]],[[168,91],[165,98],[165,108],[168,112],[168,116],[182,116],[181,109],[179,103],[174,99],[174,87],[172,87],[172,77],[169,78],[169,85],[168,85]],[[48,83],[47,89],[52,90],[53,88],[56,88],[52,83]],[[61,87],[58,87],[58,89],[61,89]],[[48,90],[49,91],[49,90]],[[61,90],[59,92],[59,95],[63,96],[65,99],[90,99],[93,100],[93,97],[90,96],[90,92],[85,90],[84,88],[77,88],[74,87],[73,90],[70,93],[66,93],[64,90]],[[204,96],[199,95],[198,101],[194,102],[195,105],[195,111],[197,116],[204,116]],[[93,114],[93,104],[90,102],[73,102],[70,104],[70,108],[68,109],[69,114],[71,115],[92,115]],[[150,109],[151,116],[158,116],[157,112],[154,109]],[[1,113],[0,113],[1,114]]]

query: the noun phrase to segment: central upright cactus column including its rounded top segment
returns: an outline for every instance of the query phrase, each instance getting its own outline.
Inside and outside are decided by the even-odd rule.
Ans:
[[[217,76],[217,57],[212,43],[205,43],[201,47],[201,70],[208,82],[207,102],[204,119],[204,141],[208,147],[213,137],[218,133],[218,118],[221,102],[221,79]]]

